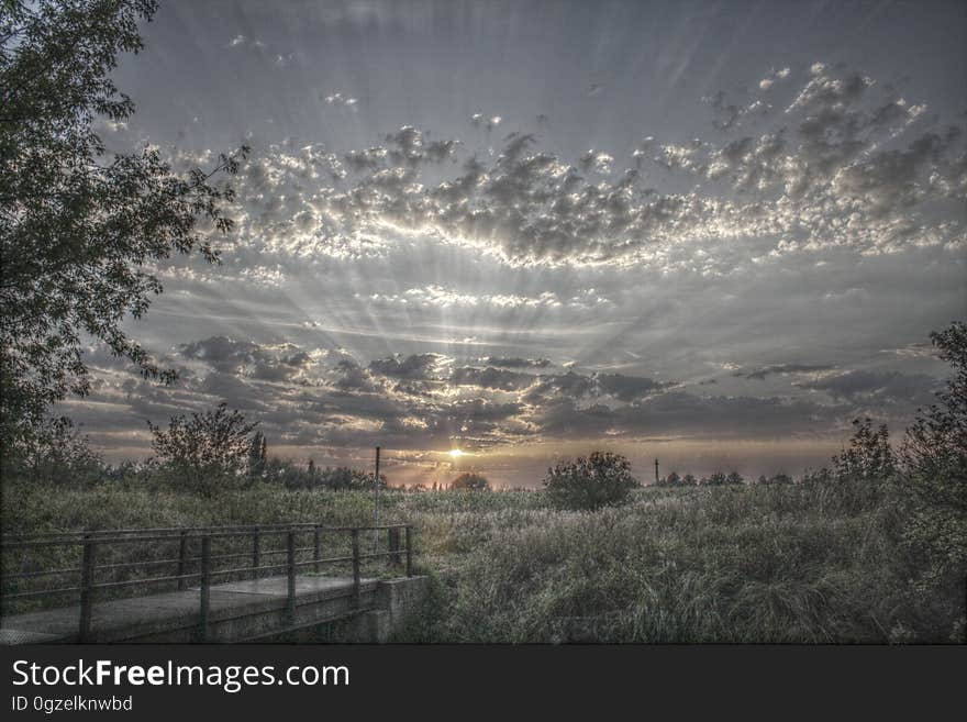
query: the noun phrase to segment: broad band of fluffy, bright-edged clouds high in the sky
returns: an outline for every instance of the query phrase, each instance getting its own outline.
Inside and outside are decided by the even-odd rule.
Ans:
[[[296,177],[304,160],[289,165],[297,154],[277,149],[242,179],[243,235],[290,254],[362,257],[385,253],[391,231],[514,266],[645,265],[705,277],[829,248],[967,244],[963,129],[929,126],[923,105],[856,71],[818,64],[798,87],[786,68],[769,78],[783,81],[785,110],[766,112],[778,96],[757,98],[729,111],[721,137],[648,137],[613,179],[612,154],[569,160],[519,132],[490,156],[403,126],[340,157],[316,149],[308,178]],[[716,112],[729,108],[723,98],[712,101]],[[658,190],[655,173],[690,188]]]

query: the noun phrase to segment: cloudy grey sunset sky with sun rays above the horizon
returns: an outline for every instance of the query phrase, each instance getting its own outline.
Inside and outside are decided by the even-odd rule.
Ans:
[[[224,400],[394,485],[799,474],[943,386],[962,2],[163,2],[143,37],[108,147],[252,153],[221,265],[127,324],[180,380],[88,352],[64,406],[109,458]]]

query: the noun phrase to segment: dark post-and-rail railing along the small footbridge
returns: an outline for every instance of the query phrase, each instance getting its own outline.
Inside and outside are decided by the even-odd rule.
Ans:
[[[364,532],[373,533],[371,546],[365,553],[360,540]],[[385,551],[380,546],[384,533]],[[198,638],[204,641],[212,584],[281,576],[284,571],[288,578],[286,611],[294,621],[297,575],[346,565],[352,568],[353,603],[358,607],[364,564],[386,559],[392,569],[401,571],[404,567],[405,575],[412,576],[413,530],[409,524],[300,523],[9,535],[0,538],[0,558],[3,606],[55,598],[79,600],[81,642],[91,640],[96,601],[137,596],[140,589],[159,587],[198,588]]]

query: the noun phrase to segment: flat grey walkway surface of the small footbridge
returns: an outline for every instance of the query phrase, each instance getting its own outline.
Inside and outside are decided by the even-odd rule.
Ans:
[[[211,586],[210,619],[219,623],[230,619],[255,617],[285,608],[288,577],[275,576]],[[376,588],[375,579],[360,579],[360,592]],[[345,601],[354,592],[353,577],[296,577],[296,603]],[[199,618],[200,589],[169,591],[127,599],[97,602],[91,608],[91,632],[96,642],[123,642],[137,637],[160,637],[177,630],[193,627]],[[343,604],[345,607],[345,604]],[[342,607],[333,606],[338,615]],[[353,608],[352,612],[359,612]],[[345,612],[342,612],[345,615]],[[0,644],[45,644],[76,642],[80,607],[64,607],[0,620]],[[225,641],[225,640],[222,640]],[[241,641],[241,640],[230,640]]]

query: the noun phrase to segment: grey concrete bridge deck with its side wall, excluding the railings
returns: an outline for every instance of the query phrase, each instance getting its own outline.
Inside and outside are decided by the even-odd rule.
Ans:
[[[287,631],[357,618],[371,633],[364,630],[356,636],[385,641],[380,636],[386,637],[390,626],[399,623],[408,611],[405,602],[414,599],[414,590],[416,597],[422,597],[420,590],[425,589],[425,577],[360,579],[357,606],[353,577],[298,575],[294,619],[287,610],[286,576],[212,585],[207,641],[258,641]],[[194,588],[95,603],[90,641],[200,641],[200,589]],[[0,644],[75,643],[79,614],[80,607],[74,606],[4,617],[0,620]]]

